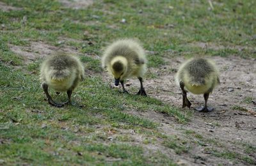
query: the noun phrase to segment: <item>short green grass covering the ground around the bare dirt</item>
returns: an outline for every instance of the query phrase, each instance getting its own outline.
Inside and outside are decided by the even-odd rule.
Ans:
[[[140,39],[150,52],[149,70],[168,64],[165,59],[173,56],[256,57],[254,1],[216,2],[214,10],[208,10],[207,1],[183,0],[104,0],[78,10],[51,0],[1,2],[20,8],[0,10],[0,164],[4,165],[175,165],[172,156],[145,146],[161,145],[182,155],[190,153],[191,138],[210,142],[189,130],[182,139],[170,137],[159,130],[161,124],[131,113],[159,112],[180,124],[192,116],[154,96],[124,95],[109,87],[100,77],[104,72],[100,56],[116,38]],[[12,51],[13,45],[31,47],[31,42],[57,50],[72,47],[72,53],[79,55],[91,75],[72,94],[74,106],[57,109],[45,101],[39,80],[42,59],[26,64],[26,58]],[[200,47],[200,42],[211,48]],[[148,72],[146,77],[158,75]],[[67,100],[65,93],[50,93],[55,100]],[[143,144],[136,142],[138,135]],[[248,154],[255,151],[244,148]],[[253,161],[248,156],[238,158]]]

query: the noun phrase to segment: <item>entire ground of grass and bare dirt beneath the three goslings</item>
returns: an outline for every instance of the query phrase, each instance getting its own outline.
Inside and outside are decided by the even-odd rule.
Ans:
[[[255,165],[256,30],[253,1],[0,2],[0,165]],[[144,86],[113,87],[100,66],[117,38],[147,52]],[[40,87],[40,63],[79,56],[86,79],[63,108]],[[174,77],[190,57],[214,60],[212,112],[202,95],[182,109]],[[65,93],[55,100],[65,101]]]

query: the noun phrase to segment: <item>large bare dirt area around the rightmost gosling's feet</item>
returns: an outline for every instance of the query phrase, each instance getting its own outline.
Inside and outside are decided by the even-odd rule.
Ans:
[[[239,160],[225,159],[213,155],[209,149],[216,149],[218,152],[232,151],[241,155],[244,153],[243,144],[256,146],[256,59],[242,59],[237,56],[230,57],[212,57],[220,68],[220,86],[209,97],[209,105],[214,107],[212,112],[196,112],[195,107],[204,104],[202,95],[188,93],[188,98],[192,103],[193,117],[188,124],[179,124],[174,117],[161,114],[159,112],[140,112],[140,110],[130,110],[130,114],[140,117],[147,117],[152,121],[160,123],[159,131],[166,135],[177,135],[180,138],[189,140],[184,131],[191,130],[202,136],[205,144],[192,144],[188,153],[181,155],[175,154],[172,150],[161,145],[161,140],[157,141],[154,146],[143,145],[148,150],[163,151],[166,155],[172,156],[175,162],[185,165],[244,165]],[[150,68],[151,73],[156,73],[156,79],[145,79],[144,85],[148,96],[154,96],[163,102],[181,107],[182,94],[180,88],[175,84],[174,77],[184,57],[174,57],[166,59],[168,65],[161,68]],[[113,80],[107,75],[103,76],[111,84]],[[137,79],[128,81],[127,90],[130,93],[136,93],[134,88],[139,88],[140,84]],[[136,90],[137,91],[137,90]],[[192,140],[195,138],[192,138]],[[136,139],[140,140],[140,139]],[[191,141],[192,141],[191,140]],[[211,141],[215,143],[211,143]],[[207,142],[210,141],[210,142]],[[252,158],[255,155],[250,154]]]

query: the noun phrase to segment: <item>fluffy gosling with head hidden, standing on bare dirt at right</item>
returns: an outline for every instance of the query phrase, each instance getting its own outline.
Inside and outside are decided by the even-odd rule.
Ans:
[[[187,98],[187,92],[204,94],[205,104],[196,108],[198,111],[212,111],[207,107],[209,94],[214,87],[220,84],[220,75],[216,65],[209,59],[194,58],[182,64],[177,72],[175,80],[182,90],[182,108],[191,106]]]

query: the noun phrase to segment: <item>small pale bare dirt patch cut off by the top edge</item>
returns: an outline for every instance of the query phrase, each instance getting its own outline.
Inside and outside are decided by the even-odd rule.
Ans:
[[[68,8],[83,9],[93,4],[93,0],[60,0]]]

